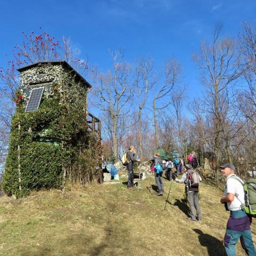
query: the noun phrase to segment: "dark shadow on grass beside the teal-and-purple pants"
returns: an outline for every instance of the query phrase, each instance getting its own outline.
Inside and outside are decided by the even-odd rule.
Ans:
[[[226,255],[225,247],[223,243],[216,237],[209,234],[204,234],[199,229],[193,229],[198,236],[199,243],[207,248],[209,256]]]

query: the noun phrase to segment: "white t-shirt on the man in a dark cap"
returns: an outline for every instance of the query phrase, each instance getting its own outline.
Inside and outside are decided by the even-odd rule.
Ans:
[[[241,202],[244,204],[244,188],[242,184],[238,180],[236,180],[240,179],[239,177],[234,179],[230,178],[231,176],[237,177],[235,174],[228,175],[225,196],[227,196],[228,193],[235,195],[233,202],[227,203],[227,205],[229,211],[238,211],[241,210]],[[241,202],[237,199],[237,197]]]

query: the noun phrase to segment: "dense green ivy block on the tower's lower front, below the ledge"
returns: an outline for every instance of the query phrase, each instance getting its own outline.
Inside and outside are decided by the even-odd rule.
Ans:
[[[3,188],[7,195],[27,195],[33,188],[61,187],[63,153],[60,145],[31,142],[20,150],[21,183],[18,182],[18,151],[9,154],[3,174]],[[11,157],[12,155],[12,157]],[[19,190],[21,186],[21,191]]]

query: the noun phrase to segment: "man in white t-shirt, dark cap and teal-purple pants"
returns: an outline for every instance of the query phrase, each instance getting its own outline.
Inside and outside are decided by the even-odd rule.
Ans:
[[[245,203],[244,188],[239,181],[241,179],[235,174],[235,166],[233,164],[221,165],[220,169],[224,177],[227,178],[225,197],[220,198],[220,203],[225,204],[226,210],[230,211],[224,237],[226,253],[228,256],[236,255],[235,246],[240,238],[246,254],[256,255],[251,232],[252,217],[241,209],[241,205]]]

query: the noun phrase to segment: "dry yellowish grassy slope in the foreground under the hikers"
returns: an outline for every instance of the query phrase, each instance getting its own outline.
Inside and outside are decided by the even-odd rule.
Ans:
[[[34,192],[0,198],[0,255],[225,255],[222,239],[228,212],[222,192],[202,183],[202,222],[187,221],[184,186],[174,183],[170,203],[151,195],[154,178],[141,190],[122,183],[86,190]],[[155,186],[153,186],[155,188]],[[252,225],[253,238],[256,221]],[[245,255],[237,244],[237,255]]]

